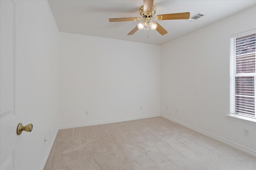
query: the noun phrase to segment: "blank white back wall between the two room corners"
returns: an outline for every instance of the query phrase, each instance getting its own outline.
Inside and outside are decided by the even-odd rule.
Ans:
[[[60,42],[60,126],[160,114],[160,46],[70,33]]]

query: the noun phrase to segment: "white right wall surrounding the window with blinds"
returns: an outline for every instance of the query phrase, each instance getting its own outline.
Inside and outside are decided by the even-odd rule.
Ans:
[[[256,7],[162,45],[161,113],[256,153],[256,126],[226,116],[230,36],[254,28]]]

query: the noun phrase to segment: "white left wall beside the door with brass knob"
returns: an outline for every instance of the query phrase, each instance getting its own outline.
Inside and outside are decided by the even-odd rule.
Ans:
[[[16,7],[16,112],[23,125],[24,170],[42,168],[58,129],[59,32],[47,1],[15,2]],[[50,135],[49,135],[50,129]],[[44,146],[44,137],[46,144]],[[16,167],[19,169],[18,167]]]

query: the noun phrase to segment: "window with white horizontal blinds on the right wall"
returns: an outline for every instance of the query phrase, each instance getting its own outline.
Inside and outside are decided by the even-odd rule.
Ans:
[[[256,119],[256,29],[230,39],[230,114]]]

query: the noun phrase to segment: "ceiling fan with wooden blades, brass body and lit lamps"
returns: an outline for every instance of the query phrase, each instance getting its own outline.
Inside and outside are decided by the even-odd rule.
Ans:
[[[151,19],[156,20],[184,20],[190,17],[189,12],[182,13],[174,13],[174,14],[161,14],[157,15],[156,18],[153,18],[154,14],[156,14],[156,7],[153,6],[154,0],[143,0],[143,6],[140,7],[140,18],[109,18],[110,22],[119,22],[119,21],[138,21],[144,20],[140,22],[132,31],[130,31],[127,35],[133,35],[138,29],[148,32],[149,29],[158,31],[161,35],[165,35],[168,33],[159,23],[156,21],[152,22]]]

